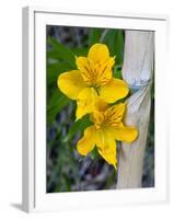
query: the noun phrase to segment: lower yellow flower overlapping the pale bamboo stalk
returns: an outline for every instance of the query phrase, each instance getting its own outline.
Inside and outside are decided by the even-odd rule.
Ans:
[[[123,116],[126,104],[108,106],[103,101],[96,102],[96,108],[92,114],[94,125],[84,130],[84,136],[78,141],[77,149],[81,155],[86,155],[96,146],[98,153],[108,164],[116,169],[116,141],[134,141],[138,131],[136,127],[126,127],[123,124]]]

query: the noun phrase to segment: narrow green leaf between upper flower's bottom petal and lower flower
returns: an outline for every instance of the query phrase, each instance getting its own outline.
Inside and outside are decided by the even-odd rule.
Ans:
[[[81,119],[76,122],[69,129],[68,135],[63,139],[65,142],[69,141],[72,139],[72,137],[78,134],[79,131],[84,131],[86,127],[92,125],[92,122],[89,119],[89,115],[83,116]]]

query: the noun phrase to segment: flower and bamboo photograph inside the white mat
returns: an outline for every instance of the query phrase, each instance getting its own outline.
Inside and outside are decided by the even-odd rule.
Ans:
[[[46,25],[46,193],[155,186],[155,68],[153,53],[147,57],[154,39],[148,33],[146,47],[142,31]],[[143,70],[152,64],[149,81],[128,80],[135,57]]]

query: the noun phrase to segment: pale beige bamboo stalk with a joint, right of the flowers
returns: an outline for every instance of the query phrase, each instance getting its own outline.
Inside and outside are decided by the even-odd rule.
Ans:
[[[127,102],[125,124],[136,126],[138,139],[123,142],[118,158],[117,188],[141,187],[143,157],[151,105],[153,32],[126,31],[123,78],[134,94]]]

